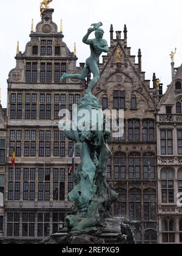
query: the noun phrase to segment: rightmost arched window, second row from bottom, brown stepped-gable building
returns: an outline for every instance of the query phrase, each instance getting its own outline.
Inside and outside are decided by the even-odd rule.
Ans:
[[[144,190],[144,220],[155,221],[156,219],[156,191],[152,188]]]

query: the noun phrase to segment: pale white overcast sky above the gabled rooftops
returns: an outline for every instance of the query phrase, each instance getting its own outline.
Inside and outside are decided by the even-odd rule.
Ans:
[[[0,34],[0,86],[2,106],[7,107],[7,78],[15,68],[16,43],[19,40],[20,51],[30,40],[32,18],[36,25],[40,20],[40,0],[1,1]],[[53,21],[63,21],[64,41],[70,51],[76,42],[78,65],[85,62],[89,48],[82,43],[83,35],[91,23],[102,21],[104,38],[109,41],[110,24],[114,30],[122,30],[124,24],[128,30],[128,46],[132,55],[141,48],[143,71],[146,79],[152,80],[155,72],[164,88],[170,84],[170,51],[177,47],[175,66],[182,62],[182,26],[181,0],[53,0],[50,7],[55,9]],[[123,34],[122,34],[123,37]],[[136,60],[137,62],[137,60]]]

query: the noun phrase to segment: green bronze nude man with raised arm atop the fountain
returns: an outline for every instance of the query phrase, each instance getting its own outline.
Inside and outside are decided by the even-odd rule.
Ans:
[[[91,72],[93,73],[93,79],[90,82],[89,88],[86,90],[86,94],[92,94],[92,89],[95,87],[96,83],[100,79],[98,61],[99,57],[103,52],[109,52],[109,47],[107,41],[103,39],[104,30],[100,27],[103,26],[103,23],[92,24],[88,29],[87,34],[83,38],[83,43],[90,45],[91,55],[86,60],[86,67],[83,69],[81,74],[66,74],[64,73],[61,77],[61,82],[67,78],[73,79],[86,79],[87,75]],[[89,39],[89,35],[95,31],[95,38]]]

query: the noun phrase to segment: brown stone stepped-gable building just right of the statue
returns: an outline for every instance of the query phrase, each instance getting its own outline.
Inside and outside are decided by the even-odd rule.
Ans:
[[[150,88],[140,49],[136,63],[127,46],[126,26],[121,37],[117,31],[114,38],[111,26],[109,54],[99,64],[101,79],[94,91],[104,109],[124,111],[124,135],[110,140],[108,177],[119,196],[112,214],[141,222],[137,243],[157,243],[156,77]]]

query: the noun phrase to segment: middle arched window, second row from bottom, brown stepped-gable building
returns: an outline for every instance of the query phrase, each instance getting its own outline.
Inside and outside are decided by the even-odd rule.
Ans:
[[[133,188],[129,191],[129,218],[133,221],[141,220],[141,190]]]

